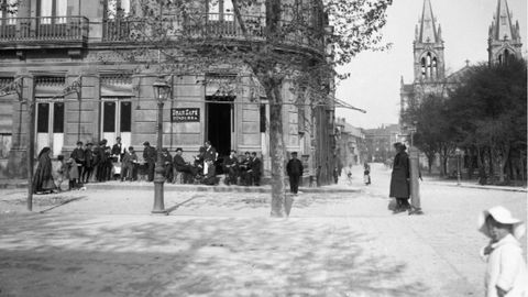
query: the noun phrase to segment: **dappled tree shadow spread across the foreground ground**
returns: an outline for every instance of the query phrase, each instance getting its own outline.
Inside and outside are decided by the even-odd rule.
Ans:
[[[0,296],[428,296],[344,220],[0,222]]]

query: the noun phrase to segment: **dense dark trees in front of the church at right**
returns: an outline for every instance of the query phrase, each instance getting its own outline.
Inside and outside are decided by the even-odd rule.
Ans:
[[[469,68],[457,84],[441,94],[428,95],[402,114],[404,122],[416,123],[415,145],[429,161],[437,155],[441,175],[448,160],[462,150],[469,177],[479,168],[499,183],[524,179],[527,148],[527,64],[481,64]]]

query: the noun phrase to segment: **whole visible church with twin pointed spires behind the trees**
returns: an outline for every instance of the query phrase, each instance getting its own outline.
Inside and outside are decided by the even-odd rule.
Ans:
[[[507,0],[497,0],[492,24],[488,29],[488,63],[505,63],[510,57],[521,57],[519,23],[513,22],[513,13]],[[410,106],[418,103],[426,96],[447,96],[447,90],[454,87],[459,78],[469,69],[469,62],[458,72],[446,74],[444,42],[442,29],[433,14],[430,0],[424,0],[421,16],[415,29],[414,80],[400,81],[400,114]],[[402,122],[400,129],[409,123]]]

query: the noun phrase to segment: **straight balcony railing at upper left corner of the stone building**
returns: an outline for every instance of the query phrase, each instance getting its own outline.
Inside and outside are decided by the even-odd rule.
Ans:
[[[0,19],[0,47],[44,45],[53,43],[70,46],[86,43],[88,19],[85,16],[36,16]]]

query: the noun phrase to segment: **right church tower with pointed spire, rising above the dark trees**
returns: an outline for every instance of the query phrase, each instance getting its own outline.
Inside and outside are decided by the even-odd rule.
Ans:
[[[487,40],[490,64],[505,63],[509,57],[521,57],[519,22],[512,22],[513,12],[508,9],[506,0],[497,0],[497,10],[493,15]]]

